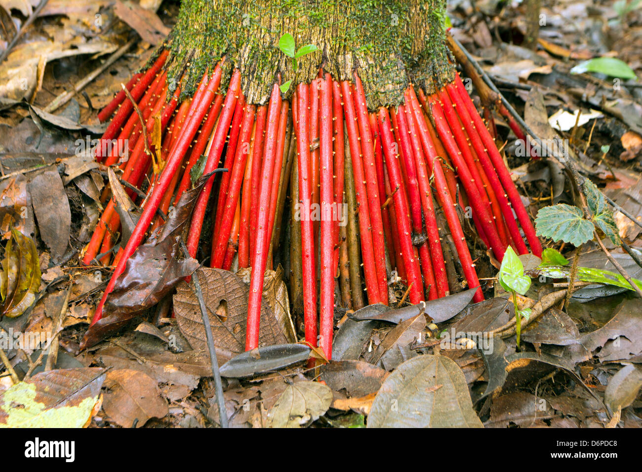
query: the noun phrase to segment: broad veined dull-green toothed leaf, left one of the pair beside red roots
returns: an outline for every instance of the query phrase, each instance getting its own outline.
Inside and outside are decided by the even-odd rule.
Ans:
[[[535,228],[539,236],[571,243],[575,247],[593,239],[593,223],[584,219],[578,207],[563,203],[544,207],[537,212]]]

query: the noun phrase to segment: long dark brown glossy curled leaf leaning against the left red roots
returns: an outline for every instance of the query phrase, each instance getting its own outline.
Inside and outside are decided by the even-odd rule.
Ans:
[[[196,259],[178,258],[182,254],[179,241],[191,219],[196,198],[211,175],[205,175],[196,182],[195,188],[181,195],[168,220],[128,259],[125,271],[116,279],[114,290],[107,297],[103,317],[87,329],[81,349],[123,328],[198,268]]]

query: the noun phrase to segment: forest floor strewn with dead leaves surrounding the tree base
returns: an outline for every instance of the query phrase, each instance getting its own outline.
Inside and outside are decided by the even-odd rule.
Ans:
[[[174,319],[157,319],[153,307],[116,335],[79,348],[112,269],[80,263],[100,217],[108,174],[79,150],[100,137],[105,127],[98,110],[151,57],[180,7],[168,0],[128,4],[51,0],[0,64],[3,299],[6,284],[24,284],[35,265],[42,273],[39,286],[23,291],[30,303],[18,317],[1,316],[15,304],[0,303],[0,348],[6,356],[0,364],[0,406],[17,387],[31,384],[41,408],[56,408],[63,399],[83,405],[73,419],[78,425],[216,427],[208,346],[200,313],[193,316],[197,297],[187,284],[174,295]],[[28,0],[0,0],[0,50],[31,8]],[[642,279],[642,227],[618,211],[642,222],[642,85],[612,65],[588,73],[573,69],[592,58],[618,58],[641,78],[642,2],[544,0],[534,49],[521,46],[525,13],[518,1],[448,3],[451,34],[517,114],[542,139],[568,146],[580,173],[615,202],[614,221],[629,250],[609,238],[603,244],[631,277]],[[70,100],[51,107],[132,39],[114,64]],[[481,106],[478,98],[476,104]],[[525,157],[507,123],[499,116],[494,120],[498,148],[533,216],[547,205],[582,207],[567,168],[546,156]],[[19,244],[12,228],[33,236],[35,249],[28,241]],[[580,268],[616,270],[596,241],[578,248],[542,241]],[[382,306],[340,316],[334,351],[342,360],[315,367],[301,361],[309,349],[294,344],[301,337],[299,314],[290,313],[288,274],[270,272],[264,295],[273,329],[261,343],[290,343],[286,354],[298,362],[281,367],[282,351],[250,354],[240,367],[267,371],[254,375],[238,374],[239,365],[225,366],[244,350],[236,334],[247,313],[247,271],[200,272],[202,295],[216,319],[214,344],[230,426],[416,426],[428,417],[433,425],[487,428],[641,427],[642,311],[636,293],[622,284],[586,283],[521,333],[520,350],[514,335],[493,337],[493,329],[514,317],[514,305],[498,283],[498,265],[477,242],[471,252],[486,301],[470,304],[463,291],[416,312],[405,306],[401,310],[410,315],[401,322],[401,310]],[[15,260],[21,261],[20,270],[9,267]],[[521,261],[527,273],[541,262],[534,256]],[[520,306],[568,286],[564,277],[553,284],[537,275]],[[25,341],[45,333],[44,351]],[[451,333],[480,336],[471,344],[471,336],[455,342]],[[16,340],[25,342],[16,345]],[[434,376],[428,381],[422,371]],[[419,401],[404,389],[409,383],[425,385],[435,401]],[[38,396],[52,385],[57,396]],[[398,403],[396,415],[388,415],[391,400]],[[408,414],[417,410],[420,415]],[[0,423],[11,421],[10,412],[0,408]]]

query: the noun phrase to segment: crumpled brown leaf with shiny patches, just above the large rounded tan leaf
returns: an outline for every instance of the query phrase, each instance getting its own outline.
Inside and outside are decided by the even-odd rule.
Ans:
[[[397,365],[416,356],[410,350],[414,342],[421,342],[421,333],[426,329],[426,317],[417,315],[402,321],[386,333],[381,343],[377,345],[368,362],[375,365],[381,364],[386,371],[392,371]]]

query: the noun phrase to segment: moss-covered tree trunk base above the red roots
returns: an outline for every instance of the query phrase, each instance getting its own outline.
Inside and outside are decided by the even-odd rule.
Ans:
[[[445,6],[445,0],[185,0],[168,39],[168,76],[184,77],[187,96],[225,57],[225,67],[240,69],[248,103],[264,104],[275,81],[309,82],[320,67],[351,80],[356,70],[370,109],[399,105],[408,83],[431,91],[453,78]],[[296,71],[278,46],[284,33],[297,48],[318,48]]]

